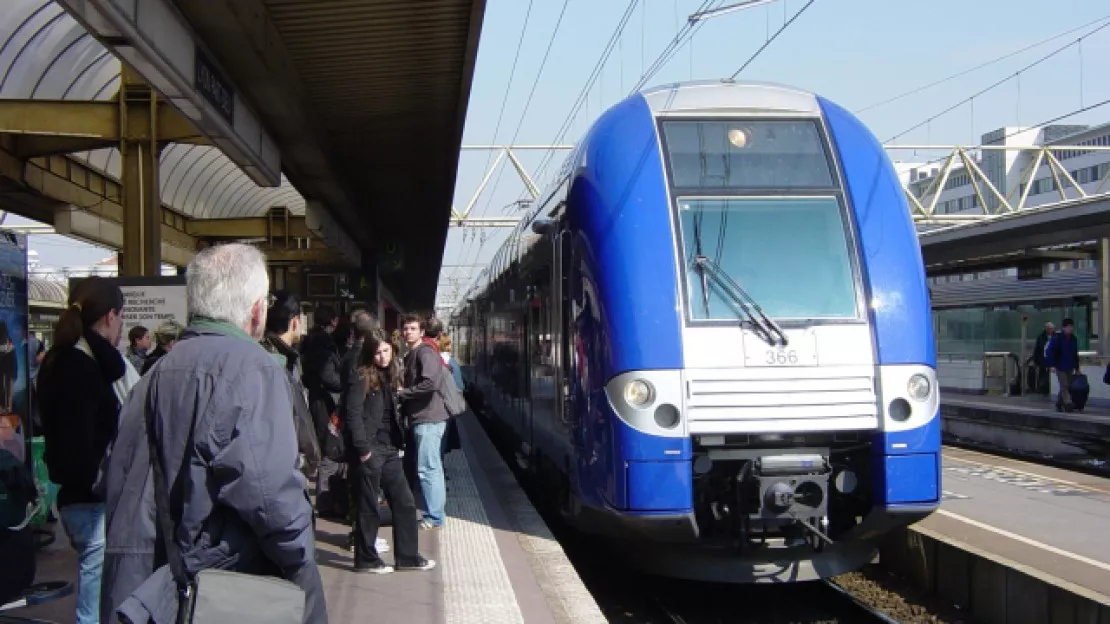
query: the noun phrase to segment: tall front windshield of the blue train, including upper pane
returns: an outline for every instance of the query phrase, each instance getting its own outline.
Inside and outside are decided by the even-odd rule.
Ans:
[[[694,321],[745,318],[705,279],[702,256],[779,320],[856,319],[849,230],[813,121],[667,121],[686,309]]]

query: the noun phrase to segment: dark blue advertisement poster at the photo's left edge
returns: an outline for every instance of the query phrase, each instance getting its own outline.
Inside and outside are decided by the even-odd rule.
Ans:
[[[27,238],[0,232],[0,447],[23,460],[27,370]]]

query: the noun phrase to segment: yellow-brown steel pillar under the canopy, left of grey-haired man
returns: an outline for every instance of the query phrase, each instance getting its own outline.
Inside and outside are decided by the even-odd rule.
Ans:
[[[125,63],[118,95],[120,105],[120,182],[123,187],[123,250],[120,275],[157,276],[162,273],[162,199],[158,137],[158,94]],[[143,128],[135,138],[131,128]]]

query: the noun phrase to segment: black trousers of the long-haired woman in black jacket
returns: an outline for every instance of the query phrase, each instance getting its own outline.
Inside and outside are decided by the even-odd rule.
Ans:
[[[354,561],[381,561],[374,543],[382,519],[377,507],[379,493],[385,494],[393,513],[393,550],[397,564],[415,564],[420,556],[420,537],[416,529],[416,503],[401,457],[394,450],[374,451],[365,462],[351,466],[355,483]]]

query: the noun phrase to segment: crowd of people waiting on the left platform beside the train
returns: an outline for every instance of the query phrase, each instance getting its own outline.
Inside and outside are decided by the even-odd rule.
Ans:
[[[122,353],[119,286],[78,283],[38,371],[77,622],[176,622],[178,555],[189,577],[292,582],[304,621],[326,622],[317,516],[351,524],[355,572],[432,570],[418,535],[447,521],[444,456],[458,446],[442,384],[462,390],[442,324],[405,316],[390,334],[369,310],[319,305],[305,331],[301,301],[271,292],[244,244],[201,251],[185,279],[188,326],[134,328]]]

